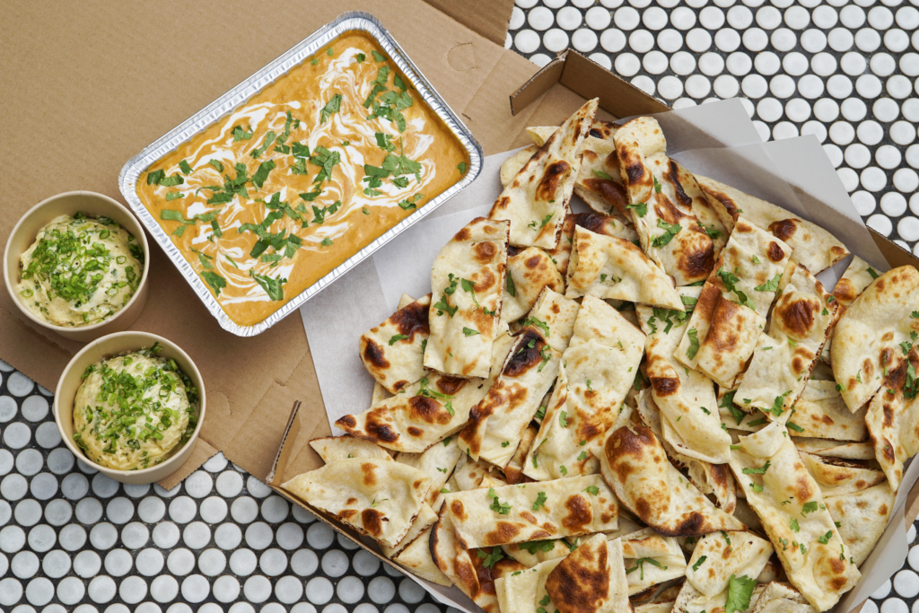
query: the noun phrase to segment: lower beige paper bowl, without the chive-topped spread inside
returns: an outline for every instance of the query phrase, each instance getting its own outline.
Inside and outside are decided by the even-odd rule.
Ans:
[[[119,471],[99,466],[96,462],[86,458],[83,449],[74,443],[74,399],[76,391],[83,382],[83,373],[86,367],[92,364],[97,364],[104,359],[127,351],[136,351],[153,346],[154,343],[159,343],[163,347],[159,355],[164,358],[175,359],[178,368],[182,369],[192,384],[198,388],[198,426],[195,426],[195,431],[191,437],[178,448],[172,457],[162,464],[139,471]],[[182,464],[191,456],[191,452],[195,448],[195,442],[198,440],[201,426],[204,424],[206,400],[201,373],[195,363],[191,361],[191,358],[188,358],[187,353],[182,351],[179,346],[163,336],[152,335],[147,332],[117,332],[113,335],[96,339],[83,347],[63,369],[61,379],[58,380],[57,390],[54,392],[54,421],[57,422],[58,430],[61,431],[64,444],[74,453],[74,456],[84,460],[90,466],[98,469],[99,472],[122,483],[152,483],[164,480],[181,468]]]

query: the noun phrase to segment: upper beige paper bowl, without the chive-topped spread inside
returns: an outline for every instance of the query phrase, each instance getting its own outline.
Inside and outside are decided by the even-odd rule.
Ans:
[[[83,211],[89,217],[105,215],[114,221],[118,221],[122,228],[134,235],[134,238],[138,240],[143,248],[141,284],[138,286],[137,291],[134,292],[134,295],[130,297],[130,301],[119,312],[116,312],[104,322],[80,327],[49,324],[36,317],[35,313],[28,309],[26,299],[20,296],[17,291],[19,284],[19,257],[35,242],[35,237],[41,228],[51,220],[59,215],[73,215],[77,211]],[[64,338],[85,343],[100,336],[127,330],[130,324],[133,324],[134,320],[141,314],[143,305],[147,302],[148,278],[150,276],[150,245],[147,244],[147,235],[143,233],[140,221],[137,221],[137,218],[126,207],[102,194],[96,194],[91,191],[69,191],[42,200],[29,209],[14,226],[13,232],[9,234],[9,239],[6,241],[3,257],[3,275],[6,290],[17,307],[19,307],[19,312],[22,312],[32,322],[56,332]]]

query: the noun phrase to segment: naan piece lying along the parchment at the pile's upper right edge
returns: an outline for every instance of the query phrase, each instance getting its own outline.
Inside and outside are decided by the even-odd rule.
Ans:
[[[696,180],[728,232],[743,215],[788,244],[795,252],[795,260],[815,275],[849,255],[845,244],[816,223],[798,219],[789,210],[706,176],[696,175]]]

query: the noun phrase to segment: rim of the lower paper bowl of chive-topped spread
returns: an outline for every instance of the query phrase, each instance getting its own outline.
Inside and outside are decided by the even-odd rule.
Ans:
[[[192,360],[191,357],[188,356],[188,354],[185,352],[184,349],[182,349],[182,347],[176,345],[176,343],[172,342],[168,338],[165,338],[165,336],[154,335],[151,332],[143,332],[142,330],[124,330],[122,332],[114,332],[110,335],[99,336],[98,338],[96,338],[96,340],[86,343],[86,346],[84,346],[79,351],[77,351],[74,354],[74,357],[71,358],[69,362],[67,362],[67,366],[64,367],[63,372],[61,373],[61,377],[60,379],[58,379],[58,384],[54,388],[54,403],[51,407],[51,411],[54,413],[54,423],[58,428],[58,434],[61,435],[64,445],[66,445],[66,447],[70,449],[71,453],[74,454],[74,457],[77,460],[84,460],[87,465],[96,469],[99,472],[102,472],[103,474],[131,474],[131,475],[144,476],[144,475],[153,474],[154,471],[155,472],[164,471],[166,466],[169,466],[170,463],[175,462],[175,460],[179,458],[179,455],[180,455],[179,452],[176,451],[176,453],[174,453],[172,457],[170,457],[168,460],[165,460],[165,462],[156,464],[155,466],[151,466],[145,469],[140,469],[137,471],[122,471],[119,469],[108,468],[108,466],[102,466],[101,464],[97,464],[95,461],[90,460],[86,456],[83,449],[76,446],[76,443],[74,443],[73,438],[66,436],[63,430],[62,420],[61,420],[61,411],[60,411],[60,404],[59,404],[60,403],[59,399],[61,398],[61,393],[62,393],[61,387],[62,387],[63,381],[67,379],[68,376],[72,375],[71,371],[74,369],[74,365],[77,363],[77,361],[79,361],[80,358],[83,358],[83,356],[90,351],[94,351],[94,350],[98,351],[97,346],[96,346],[97,343],[108,341],[118,336],[126,336],[126,335],[146,336],[151,341],[150,343],[151,346],[153,346],[153,343],[159,343],[165,348],[168,348],[169,351],[175,352],[178,358],[186,362],[187,367],[184,364],[180,364],[179,367],[183,371],[185,371],[188,378],[191,379],[195,383],[195,385],[198,387],[198,391],[199,391],[198,425],[195,426],[194,431],[191,433],[191,437],[188,437],[188,440],[185,443],[182,443],[179,447],[191,446],[191,445],[194,445],[196,442],[198,442],[198,437],[201,432],[201,427],[204,426],[205,409],[207,405],[207,392],[205,392],[204,379],[203,377],[201,377],[201,372],[198,369],[198,365],[195,364],[194,360]],[[137,347],[137,348],[140,349],[143,347]],[[99,353],[101,354],[102,352],[99,351]],[[104,355],[105,354],[103,354],[103,356]],[[113,354],[112,356],[104,357],[103,359],[112,358],[115,355],[118,355],[118,354]],[[190,370],[190,372],[188,372],[188,370]],[[196,378],[197,378],[197,381],[195,380]],[[73,414],[71,415],[71,419],[73,419]],[[184,463],[184,460],[183,460],[183,463]],[[175,469],[173,471],[166,473],[164,477],[168,476],[169,474],[172,474],[173,472],[176,472],[179,469],[179,467],[180,465],[176,465]]]

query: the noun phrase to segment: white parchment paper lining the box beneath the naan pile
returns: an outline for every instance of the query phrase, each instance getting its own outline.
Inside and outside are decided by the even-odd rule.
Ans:
[[[759,142],[738,100],[656,117],[664,127],[668,153],[691,172],[718,179],[791,210],[801,219],[814,221],[873,267],[889,268],[814,137]],[[336,419],[369,407],[373,380],[358,357],[360,335],[389,317],[403,292],[414,298],[430,292],[430,267],[435,256],[466,223],[488,213],[501,193],[501,163],[513,153],[485,158],[482,175],[471,187],[301,307],[334,434],[342,434],[334,426]],[[575,204],[575,210],[577,207]],[[820,275],[828,288],[834,286],[850,259]],[[903,503],[917,473],[919,462],[913,462],[904,475],[891,525],[862,565],[857,588],[845,596],[836,611],[857,606],[902,566],[906,557]],[[445,589],[408,576],[449,606],[464,611],[477,609],[457,588]]]

